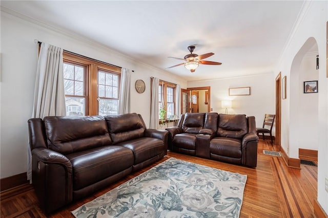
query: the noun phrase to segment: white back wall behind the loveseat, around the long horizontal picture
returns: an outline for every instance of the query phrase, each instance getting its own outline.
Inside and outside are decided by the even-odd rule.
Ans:
[[[255,116],[256,126],[262,126],[265,114],[275,114],[275,77],[273,73],[188,82],[188,88],[211,86],[213,112],[226,113],[222,100],[232,100],[228,114]],[[251,87],[251,95],[229,96],[229,88]],[[274,135],[274,130],[273,130]]]

